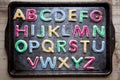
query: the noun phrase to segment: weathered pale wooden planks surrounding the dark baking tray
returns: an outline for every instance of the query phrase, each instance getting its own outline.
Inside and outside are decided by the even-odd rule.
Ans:
[[[25,0],[19,0],[19,1],[25,1]],[[32,0],[29,0],[29,1],[32,1]],[[50,2],[49,0],[47,1]],[[53,1],[57,1],[57,0],[53,0]],[[64,1],[64,0],[61,0],[61,1]],[[68,1],[72,2],[73,0],[68,0]],[[80,0],[74,0],[74,1],[80,2]],[[92,0],[92,1],[96,1],[96,0]],[[41,80],[62,80],[62,79],[64,80],[69,80],[69,79],[71,80],[119,80],[120,79],[120,0],[112,1],[113,23],[116,30],[116,48],[113,54],[112,74],[108,77],[77,77],[77,78],[76,77],[11,78],[8,75],[7,55],[4,50],[4,31],[7,24],[7,5],[9,2],[10,0],[0,0],[0,64],[1,64],[0,80],[39,80],[39,79]]]

